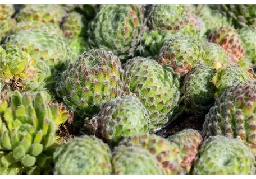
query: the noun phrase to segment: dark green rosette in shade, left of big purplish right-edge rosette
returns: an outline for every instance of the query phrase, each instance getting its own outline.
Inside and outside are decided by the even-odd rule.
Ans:
[[[198,65],[185,77],[183,84],[184,103],[187,112],[208,112],[214,103],[216,87],[212,78],[216,70],[208,65]]]

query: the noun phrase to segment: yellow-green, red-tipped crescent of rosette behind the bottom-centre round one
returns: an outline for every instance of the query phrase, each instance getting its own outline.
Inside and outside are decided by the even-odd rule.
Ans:
[[[161,136],[147,133],[137,134],[122,140],[119,145],[148,150],[161,163],[166,175],[184,175],[186,173],[179,146]]]

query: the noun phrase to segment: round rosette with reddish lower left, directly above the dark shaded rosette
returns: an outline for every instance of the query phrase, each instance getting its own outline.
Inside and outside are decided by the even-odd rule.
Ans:
[[[189,35],[177,34],[163,44],[157,60],[161,65],[168,64],[180,76],[185,76],[192,68],[202,63],[202,44]]]

